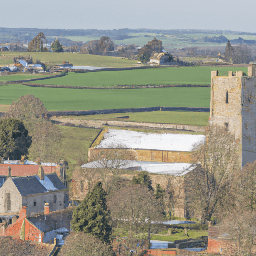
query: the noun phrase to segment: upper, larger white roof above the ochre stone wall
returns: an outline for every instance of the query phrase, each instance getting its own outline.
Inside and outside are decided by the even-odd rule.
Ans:
[[[205,135],[146,133],[109,129],[95,148],[133,148],[168,151],[192,151],[195,144],[205,140]]]

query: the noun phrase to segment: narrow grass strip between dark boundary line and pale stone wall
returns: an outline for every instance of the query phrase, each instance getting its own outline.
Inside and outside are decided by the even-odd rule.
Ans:
[[[90,116],[67,116],[73,119],[96,119],[96,120],[117,120],[133,121],[146,123],[165,123],[165,124],[185,124],[206,126],[210,113],[207,112],[187,112],[187,111],[152,111],[140,113],[116,113]],[[120,119],[119,116],[129,116],[129,119]],[[63,117],[64,119],[65,117]],[[65,121],[64,121],[65,122]]]

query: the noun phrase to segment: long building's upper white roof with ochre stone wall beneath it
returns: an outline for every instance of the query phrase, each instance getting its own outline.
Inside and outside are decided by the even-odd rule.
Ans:
[[[194,163],[191,152],[195,144],[205,139],[204,135],[145,133],[109,129],[99,136],[99,145],[89,148],[89,162],[104,158],[109,149],[132,151],[137,161]]]

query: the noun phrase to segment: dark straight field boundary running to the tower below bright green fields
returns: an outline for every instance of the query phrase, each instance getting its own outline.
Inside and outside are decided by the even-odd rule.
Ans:
[[[50,111],[52,116],[89,116],[100,114],[114,114],[127,112],[151,112],[151,111],[191,111],[191,112],[210,112],[210,108],[194,108],[194,107],[146,107],[146,108],[116,108],[116,109],[100,109],[88,111]]]

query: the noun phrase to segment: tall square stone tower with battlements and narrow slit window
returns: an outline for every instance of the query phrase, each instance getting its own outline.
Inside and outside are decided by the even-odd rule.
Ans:
[[[242,148],[242,166],[256,160],[256,64],[228,77],[211,72],[210,126],[223,126]]]

